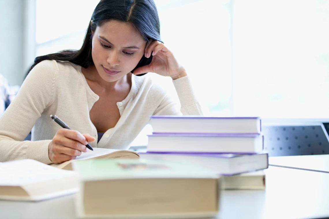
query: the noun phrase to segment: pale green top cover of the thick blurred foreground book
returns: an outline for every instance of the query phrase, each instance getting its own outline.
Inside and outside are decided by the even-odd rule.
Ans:
[[[82,181],[133,178],[219,178],[215,171],[185,162],[91,159],[73,162]]]

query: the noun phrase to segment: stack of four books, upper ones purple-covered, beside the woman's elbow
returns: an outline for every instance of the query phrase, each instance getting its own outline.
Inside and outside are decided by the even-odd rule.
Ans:
[[[215,170],[225,176],[226,189],[265,188],[262,170],[268,167],[268,154],[259,117],[152,116],[151,125],[147,152],[140,158]]]

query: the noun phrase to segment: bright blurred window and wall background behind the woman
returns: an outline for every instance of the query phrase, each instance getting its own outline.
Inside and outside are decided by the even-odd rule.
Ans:
[[[7,93],[14,96],[36,56],[80,49],[97,3],[0,0]],[[328,0],[155,3],[162,40],[210,115],[328,118]],[[151,75],[174,94],[170,78]]]

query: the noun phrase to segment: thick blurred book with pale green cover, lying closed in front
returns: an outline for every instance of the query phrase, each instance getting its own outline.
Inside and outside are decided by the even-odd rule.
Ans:
[[[85,160],[73,163],[82,218],[203,218],[218,213],[220,178],[184,162]]]

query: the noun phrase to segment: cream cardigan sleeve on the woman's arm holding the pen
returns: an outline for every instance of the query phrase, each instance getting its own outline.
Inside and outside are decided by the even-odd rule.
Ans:
[[[48,145],[52,140],[23,141],[55,99],[58,68],[53,60],[38,63],[25,78],[18,94],[0,117],[0,162],[34,159],[52,163]]]

